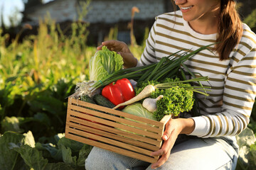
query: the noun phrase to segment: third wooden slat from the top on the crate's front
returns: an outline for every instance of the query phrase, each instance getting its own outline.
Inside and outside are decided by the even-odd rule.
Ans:
[[[92,120],[92,121],[95,121],[97,123],[102,123],[104,125],[112,126],[114,128],[127,130],[129,132],[134,132],[134,133],[137,133],[139,135],[145,135],[147,137],[152,137],[152,138],[154,138],[156,140],[159,140],[159,141],[161,140],[160,135],[158,135],[154,132],[149,132],[149,131],[141,130],[141,129],[138,129],[138,128],[133,128],[131,126],[123,125],[123,124],[120,124],[120,123],[115,123],[115,122],[110,121],[110,120],[104,120],[102,118],[97,118],[96,116],[93,116],[93,115],[87,115],[87,114],[78,113],[78,112],[75,112],[75,111],[69,111],[69,112],[70,112],[71,115],[74,115],[75,117],[84,118],[86,120]]]

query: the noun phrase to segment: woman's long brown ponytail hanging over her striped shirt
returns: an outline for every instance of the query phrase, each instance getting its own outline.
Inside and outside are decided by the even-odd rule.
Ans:
[[[234,0],[220,0],[220,20],[216,40],[220,43],[215,45],[220,61],[228,59],[230,52],[242,37],[242,21],[235,9],[235,4]]]

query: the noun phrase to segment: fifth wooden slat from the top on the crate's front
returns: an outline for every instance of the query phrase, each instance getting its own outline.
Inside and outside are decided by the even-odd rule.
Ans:
[[[134,140],[133,138],[128,138],[128,137],[124,137],[124,136],[119,135],[119,134],[115,134],[115,133],[112,133],[112,132],[100,130],[100,126],[97,126],[97,125],[95,125],[95,128],[92,128],[91,126],[93,126],[93,124],[95,124],[95,123],[88,122],[87,123],[87,125],[89,126],[88,127],[88,126],[85,126],[85,125],[79,125],[79,124],[76,124],[76,123],[69,123],[68,122],[67,123],[67,125],[68,125],[67,128],[75,128],[75,129],[78,129],[78,130],[84,130],[86,132],[92,132],[95,135],[102,135],[104,137],[109,137],[109,138],[114,139],[114,140],[119,140],[120,142],[126,142],[126,143],[129,143],[131,145],[136,145],[138,147],[144,147],[144,148],[149,149],[151,151],[156,151],[160,147],[160,146],[156,146],[156,145],[159,144],[159,142],[154,141],[155,145],[149,144],[149,142],[140,142],[139,140]],[[145,140],[147,140],[147,139],[145,139]],[[150,139],[148,139],[148,140],[150,140]]]

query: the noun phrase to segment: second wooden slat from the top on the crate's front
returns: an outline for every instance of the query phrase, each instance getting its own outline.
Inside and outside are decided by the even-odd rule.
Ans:
[[[81,107],[78,107],[78,106],[70,106],[69,111],[72,111],[72,110],[79,111],[79,112],[82,112],[82,113],[88,113],[90,115],[95,115],[97,117],[105,118],[105,119],[108,119],[108,120],[114,120],[118,123],[124,123],[124,124],[131,125],[131,126],[134,126],[134,127],[146,129],[148,131],[157,132],[159,134],[161,134],[161,132],[162,132],[162,129],[159,128],[159,127],[152,127],[152,125],[149,125],[149,124],[146,124],[146,123],[134,122],[133,120],[127,120],[125,118],[119,118],[117,116],[109,115],[107,113],[92,111],[92,110],[87,109],[87,108],[81,108]]]

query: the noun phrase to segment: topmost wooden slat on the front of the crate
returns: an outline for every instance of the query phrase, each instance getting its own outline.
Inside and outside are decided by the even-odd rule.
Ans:
[[[124,118],[130,118],[132,120],[137,120],[139,122],[144,122],[144,123],[149,123],[151,125],[155,125],[157,127],[162,127],[162,123],[156,121],[156,120],[151,120],[151,119],[148,119],[148,118],[142,118],[142,117],[139,117],[137,115],[132,115],[132,114],[129,114],[129,113],[124,113],[122,111],[117,111],[117,110],[114,110],[112,108],[106,108],[106,107],[103,107],[103,106],[98,106],[98,105],[95,105],[95,104],[92,104],[92,103],[87,103],[85,101],[80,101],[80,100],[77,100],[77,99],[72,99],[72,98],[69,98],[70,100],[70,103],[71,104],[74,104],[74,105],[80,105],[80,106],[85,106],[85,107],[90,107],[90,108],[94,108],[98,111],[103,111],[103,112],[107,112],[107,113],[112,113],[114,115],[119,115],[119,116],[122,116]]]

